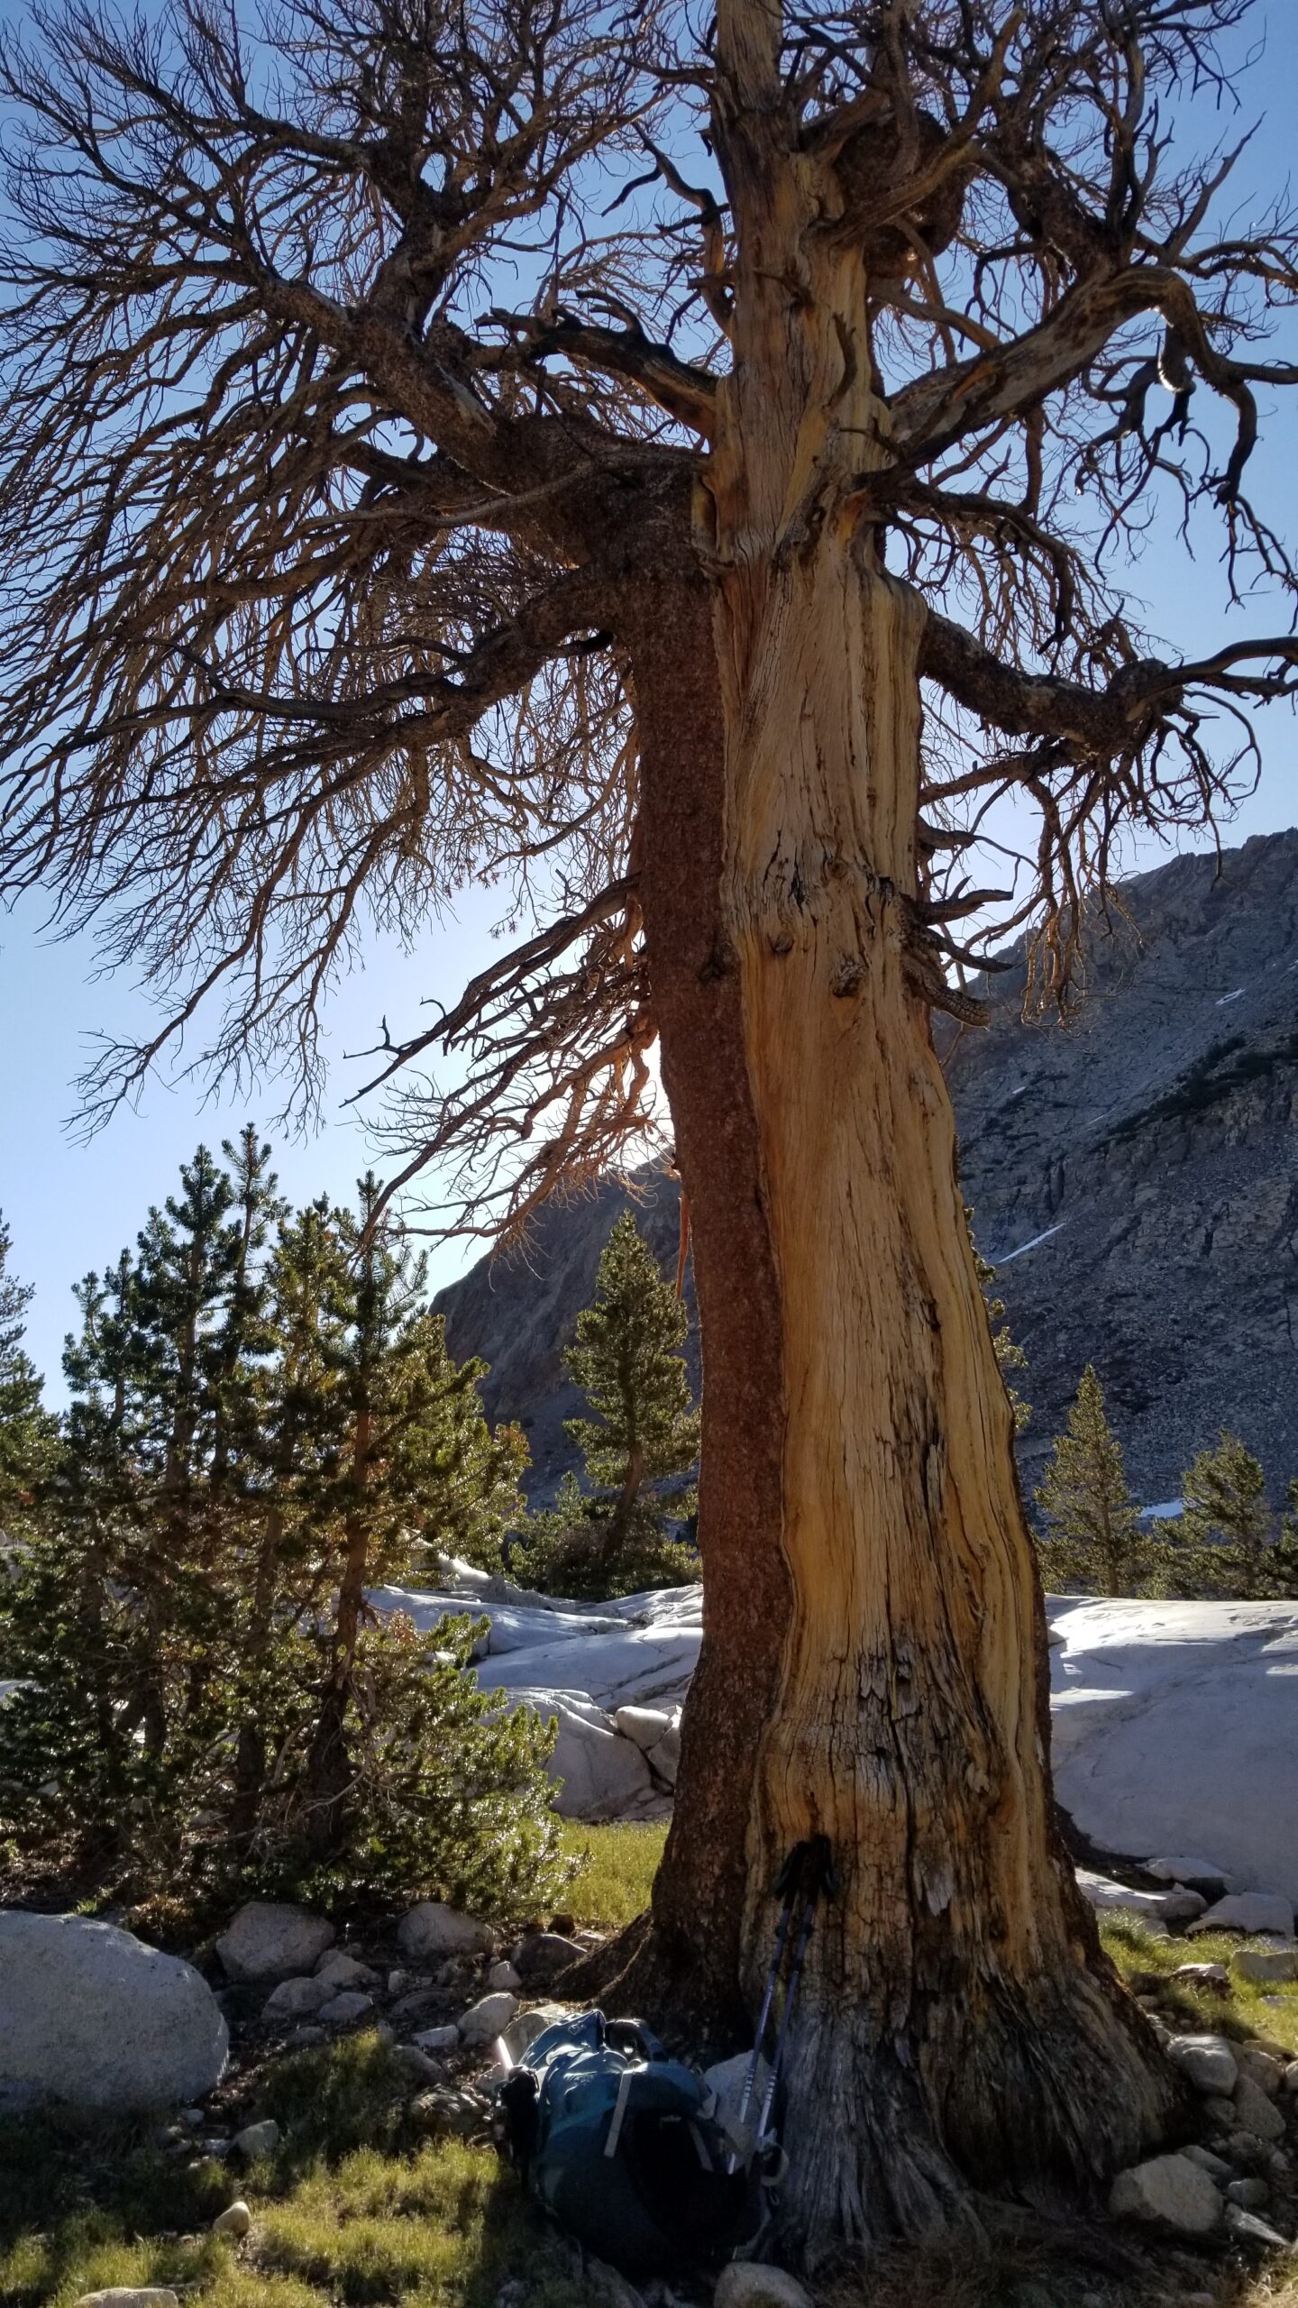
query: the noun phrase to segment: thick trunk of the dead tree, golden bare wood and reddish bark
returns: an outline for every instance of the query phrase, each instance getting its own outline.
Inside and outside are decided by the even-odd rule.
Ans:
[[[702,535],[716,699],[681,616],[658,704],[663,642],[637,658],[704,1366],[704,1653],[640,1978],[667,1950],[686,2010],[718,2022],[737,1985],[753,2013],[776,1867],[829,1837],[785,2123],[813,2260],[940,2234],[979,2186],[1099,2179],[1176,2105],[1053,1823],[1012,1410],[922,992],[924,605],[857,524],[887,411],[822,203],[795,155],[746,212]],[[681,826],[718,745],[721,856]],[[716,886],[670,889],[665,859]]]

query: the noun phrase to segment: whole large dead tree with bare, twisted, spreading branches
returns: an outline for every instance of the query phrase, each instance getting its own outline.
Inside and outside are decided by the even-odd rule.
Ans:
[[[1051,1819],[931,1011],[975,928],[1058,990],[1120,829],[1206,822],[1291,688],[1286,637],[1162,662],[1104,575],[1217,508],[1238,591],[1293,584],[1245,485],[1296,233],[1176,157],[1247,18],[85,0],[7,58],[5,884],[162,999],[95,1103],[212,1004],[206,1062],[309,1087],[360,928],[501,879],[517,942],[379,1064],[441,1223],[589,1177],[658,1043],[707,1636],[631,1978],[741,2036],[829,1835],[808,2255],[1086,2188],[1173,2110]]]

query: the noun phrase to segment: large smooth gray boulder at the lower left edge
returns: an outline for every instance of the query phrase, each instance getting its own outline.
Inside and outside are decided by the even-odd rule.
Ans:
[[[0,1980],[0,2107],[180,2107],[222,2080],[208,1983],[113,1923],[2,1911]]]

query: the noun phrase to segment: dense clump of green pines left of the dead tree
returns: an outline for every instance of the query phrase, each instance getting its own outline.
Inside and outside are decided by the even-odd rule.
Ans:
[[[0,1835],[122,1893],[434,1890],[564,1869],[550,1733],[469,1673],[480,1627],[374,1609],[411,1539],[515,1512],[513,1431],[376,1214],[289,1212],[245,1131],[199,1147],[79,1288],[72,1406],[0,1597]]]

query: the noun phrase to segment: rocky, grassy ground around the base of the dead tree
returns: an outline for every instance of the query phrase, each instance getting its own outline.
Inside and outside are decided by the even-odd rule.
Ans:
[[[1291,1925],[1293,1909],[1282,1916],[1226,1893],[1210,1858],[1171,1856],[1162,1869],[1169,1881],[1146,1869],[1143,1886],[1092,1874],[1083,1888],[1187,2077],[1185,2135],[1118,2174],[1102,2218],[1053,2241],[1021,2213],[993,2218],[989,2243],[965,2255],[958,2276],[952,2266],[924,2276],[908,2262],[903,2278],[885,2264],[868,2290],[829,2271],[811,2294],[753,2269],[635,2292],[547,2230],[487,2146],[499,2038],[517,2054],[564,2008],[561,1971],[594,1934],[554,1916],[506,1946],[437,1902],[340,1934],[323,1916],[252,1904],[194,1950],[194,1976],[229,2029],[224,2070],[199,2100],[164,2121],[136,2112],[127,2135],[127,2112],[99,2096],[81,2119],[95,2128],[81,2133],[42,2130],[49,2116],[35,2103],[23,2126],[0,2121],[0,2299],[5,2308],[180,2308],[185,2296],[194,2308],[811,2308],[813,2299],[815,2308],[866,2299],[871,2308],[1293,2308],[1298,1950],[1282,1946],[1291,1929],[1256,1929]],[[85,1943],[111,1932],[83,1918],[37,1920],[46,1932],[74,1923]],[[118,1980],[118,2003],[102,1992],[97,2024],[122,2045],[159,1980],[146,1985],[143,1971]],[[5,2006],[14,1989],[30,1996],[30,1980],[7,1969],[7,1989]],[[51,2024],[67,2031],[69,2008],[62,1992]],[[74,2213],[55,2204],[69,2188]],[[129,2211],[113,2220],[109,2206]]]

